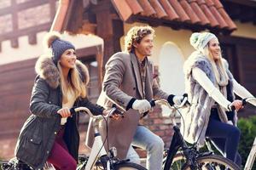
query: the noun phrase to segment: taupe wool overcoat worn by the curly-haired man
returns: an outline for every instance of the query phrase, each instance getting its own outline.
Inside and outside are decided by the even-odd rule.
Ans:
[[[154,67],[148,60],[146,68],[145,99],[167,99],[168,94],[163,92],[153,77]],[[143,99],[143,87],[135,54],[119,52],[113,54],[106,64],[106,73],[102,84],[102,93],[97,104],[111,108],[113,103],[124,110],[132,98]],[[140,115],[138,111],[130,109],[125,112],[124,118],[110,119],[108,122],[108,145],[116,147],[118,157],[124,159],[131,144]],[[86,144],[91,146],[91,126],[89,126]],[[102,139],[106,137],[106,123],[101,125]],[[106,144],[107,145],[107,144]],[[105,146],[106,146],[105,145]]]

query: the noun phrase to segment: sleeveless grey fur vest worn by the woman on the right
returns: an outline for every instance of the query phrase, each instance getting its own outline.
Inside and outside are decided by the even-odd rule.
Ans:
[[[223,59],[226,71],[229,77],[229,84],[226,87],[228,92],[228,99],[233,101],[235,95],[233,93],[233,76],[228,68],[228,63]],[[204,71],[210,81],[215,84],[216,79],[212,71],[212,65],[207,59],[199,52],[195,51],[189,56],[183,65],[183,71],[185,74],[185,90],[189,96],[189,102],[191,103],[188,111],[183,113],[184,123],[182,122],[181,132],[184,132],[184,139],[194,144],[199,139],[199,146],[203,146],[206,138],[207,125],[209,122],[212,105],[215,101],[207,94],[207,91],[201,87],[201,85],[195,81],[192,76],[192,69],[198,67]],[[233,116],[233,124],[236,125],[237,116],[235,111]],[[227,115],[218,112],[218,115],[222,122],[227,122]]]

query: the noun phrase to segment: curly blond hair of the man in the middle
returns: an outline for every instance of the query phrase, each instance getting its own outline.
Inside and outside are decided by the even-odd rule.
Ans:
[[[143,37],[149,34],[154,35],[154,29],[151,26],[134,26],[125,36],[125,51],[131,52],[134,49],[133,44],[135,42],[140,43]]]

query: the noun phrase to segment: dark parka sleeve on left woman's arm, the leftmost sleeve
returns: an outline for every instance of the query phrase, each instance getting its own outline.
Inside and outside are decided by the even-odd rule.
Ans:
[[[50,105],[49,86],[42,78],[37,78],[32,89],[32,97],[30,100],[29,110],[32,114],[42,117],[59,116],[57,111],[61,109],[60,106]]]

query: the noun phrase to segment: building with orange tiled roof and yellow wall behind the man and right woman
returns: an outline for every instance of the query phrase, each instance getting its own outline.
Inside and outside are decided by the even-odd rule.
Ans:
[[[68,3],[66,13],[62,13],[65,17],[53,26],[58,27],[58,31],[74,34],[89,31],[102,37],[102,65],[124,48],[124,35],[131,26],[153,26],[156,37],[152,59],[155,71],[160,73],[160,86],[170,94],[183,94],[183,62],[193,51],[189,37],[194,31],[212,31],[220,40],[224,58],[228,59],[236,80],[256,95],[254,1],[69,0]],[[56,17],[61,18],[61,14]],[[239,116],[253,113],[255,109],[248,106]],[[162,108],[143,123],[168,144],[172,122],[164,115],[166,109]]]

